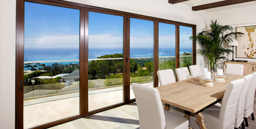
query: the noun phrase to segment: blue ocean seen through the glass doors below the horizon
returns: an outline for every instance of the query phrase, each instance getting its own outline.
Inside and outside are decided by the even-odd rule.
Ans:
[[[183,48],[183,52],[192,52],[191,48]],[[89,48],[88,58],[110,54],[123,54],[123,48]],[[159,56],[175,56],[175,48],[159,48]],[[153,57],[153,48],[130,48],[130,57]],[[24,49],[24,62],[38,61],[60,61],[60,60],[79,60],[79,48],[26,48]],[[56,62],[42,63],[52,65]],[[77,64],[79,61],[58,62],[61,64]]]

